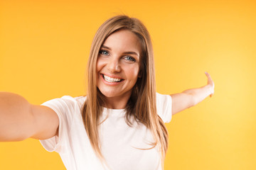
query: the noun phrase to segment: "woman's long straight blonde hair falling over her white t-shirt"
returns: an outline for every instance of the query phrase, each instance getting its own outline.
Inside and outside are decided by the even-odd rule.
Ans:
[[[126,106],[125,120],[127,125],[132,126],[130,118],[143,123],[146,128],[151,130],[155,142],[152,147],[158,147],[161,152],[161,163],[164,164],[164,158],[168,147],[168,132],[163,120],[156,113],[156,82],[154,72],[154,56],[151,44],[151,38],[144,24],[137,18],[129,16],[114,16],[100,26],[95,34],[90,49],[90,58],[87,65],[87,99],[82,108],[82,120],[85,130],[90,139],[92,148],[97,157],[105,161],[100,147],[100,137],[98,126],[100,125],[100,116],[103,111],[104,96],[97,89],[96,62],[100,47],[105,40],[114,32],[127,29],[137,35],[142,43],[142,60],[139,65],[139,75],[137,83],[134,85],[132,95]],[[151,149],[149,148],[149,149]]]

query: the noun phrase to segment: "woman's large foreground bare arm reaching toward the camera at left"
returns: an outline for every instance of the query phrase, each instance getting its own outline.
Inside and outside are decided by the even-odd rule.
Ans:
[[[0,92],[0,141],[43,140],[57,133],[58,115],[52,109],[31,105],[17,94]]]

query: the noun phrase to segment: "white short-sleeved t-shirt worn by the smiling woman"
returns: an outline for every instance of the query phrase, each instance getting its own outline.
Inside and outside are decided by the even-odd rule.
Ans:
[[[107,169],[92,149],[82,122],[81,109],[85,98],[63,96],[42,104],[58,114],[59,135],[41,140],[41,144],[49,152],[58,152],[68,170]],[[156,108],[164,123],[169,123],[171,96],[156,94]],[[107,120],[100,125],[100,142],[110,170],[161,170],[161,154],[157,147],[146,149],[151,147],[149,142],[154,142],[151,132],[136,121],[129,127],[124,120],[124,109],[104,108],[101,120],[107,114]]]

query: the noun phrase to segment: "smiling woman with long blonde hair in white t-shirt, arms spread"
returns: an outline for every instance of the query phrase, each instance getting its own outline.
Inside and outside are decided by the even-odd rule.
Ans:
[[[86,96],[31,105],[0,93],[0,141],[41,140],[66,169],[164,169],[171,115],[213,95],[208,83],[180,94],[156,93],[151,39],[137,18],[100,26],[88,61]]]

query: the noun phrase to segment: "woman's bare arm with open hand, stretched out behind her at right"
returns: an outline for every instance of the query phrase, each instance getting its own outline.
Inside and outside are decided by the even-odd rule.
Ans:
[[[196,89],[188,89],[180,94],[171,94],[172,99],[172,115],[195,106],[197,103],[203,101],[207,96],[213,96],[214,83],[210,78],[210,74],[206,72],[208,82],[206,86],[202,86]]]

